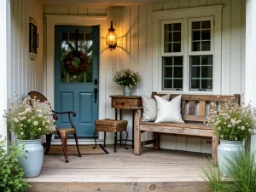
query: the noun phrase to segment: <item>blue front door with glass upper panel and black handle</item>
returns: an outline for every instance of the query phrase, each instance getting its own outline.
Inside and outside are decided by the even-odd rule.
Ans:
[[[74,111],[73,123],[79,137],[93,137],[98,119],[99,26],[55,26],[55,111]],[[89,66],[73,74],[64,67],[67,54],[78,50]],[[77,53],[77,52],[76,52]],[[79,67],[79,56],[72,65]],[[67,115],[60,115],[59,127],[70,127]]]

